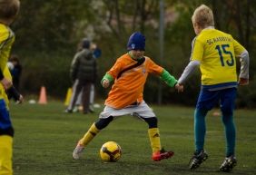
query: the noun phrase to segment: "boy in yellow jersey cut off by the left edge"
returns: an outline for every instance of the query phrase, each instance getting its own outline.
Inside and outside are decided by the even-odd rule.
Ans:
[[[6,91],[12,88],[12,76],[7,61],[15,41],[9,25],[15,20],[19,0],[0,0],[0,175],[12,175],[14,129],[10,121]]]

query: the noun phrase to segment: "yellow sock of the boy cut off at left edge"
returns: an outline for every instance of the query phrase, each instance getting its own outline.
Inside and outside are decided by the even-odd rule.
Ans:
[[[0,136],[0,175],[13,174],[13,138],[8,135]]]

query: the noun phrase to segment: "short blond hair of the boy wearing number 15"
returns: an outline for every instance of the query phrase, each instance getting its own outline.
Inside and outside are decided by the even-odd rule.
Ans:
[[[202,28],[214,26],[212,9],[206,5],[200,5],[197,7],[192,15],[192,23],[198,24]]]

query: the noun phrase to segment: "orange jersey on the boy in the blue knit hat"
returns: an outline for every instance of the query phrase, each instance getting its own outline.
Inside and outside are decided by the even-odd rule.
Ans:
[[[115,109],[124,108],[133,102],[143,102],[144,84],[149,73],[161,75],[163,68],[153,63],[151,58],[145,56],[145,61],[133,69],[125,71],[117,78],[123,69],[137,63],[126,53],[117,59],[108,74],[113,76],[114,83],[105,105]]]

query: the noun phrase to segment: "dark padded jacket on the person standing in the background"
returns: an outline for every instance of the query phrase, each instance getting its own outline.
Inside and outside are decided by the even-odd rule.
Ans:
[[[83,49],[74,55],[70,69],[71,79],[94,83],[97,76],[97,63],[91,50]]]

